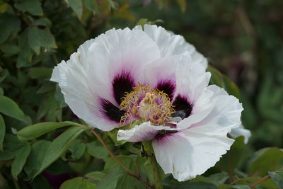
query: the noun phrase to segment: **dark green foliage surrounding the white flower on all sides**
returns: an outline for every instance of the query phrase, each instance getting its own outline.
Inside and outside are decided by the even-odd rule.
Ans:
[[[191,181],[178,183],[159,170],[163,187],[282,188],[282,8],[277,0],[0,0],[0,188],[146,187],[81,125],[49,81],[52,67],[85,40],[145,23],[185,36],[209,57],[211,84],[241,97],[243,125],[253,134],[248,145],[238,137],[216,166]],[[117,144],[115,132],[98,134],[153,185],[143,146]]]

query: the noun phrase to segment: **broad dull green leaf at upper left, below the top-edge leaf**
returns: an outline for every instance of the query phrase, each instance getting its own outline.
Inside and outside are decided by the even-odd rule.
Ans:
[[[40,47],[57,48],[54,36],[48,30],[37,27],[28,29],[28,43],[37,55],[40,54]]]

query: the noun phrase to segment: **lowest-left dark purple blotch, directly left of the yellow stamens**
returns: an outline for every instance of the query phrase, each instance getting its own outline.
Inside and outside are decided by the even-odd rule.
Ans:
[[[125,115],[124,110],[120,110],[120,108],[110,103],[110,101],[101,99],[100,105],[103,109],[103,114],[105,115],[105,117],[109,118],[112,121],[120,122],[122,116]]]

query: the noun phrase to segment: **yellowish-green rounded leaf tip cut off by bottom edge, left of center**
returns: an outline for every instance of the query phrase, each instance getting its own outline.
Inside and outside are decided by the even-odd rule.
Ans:
[[[60,189],[93,189],[96,188],[95,183],[91,183],[82,177],[76,177],[65,181],[61,186]]]

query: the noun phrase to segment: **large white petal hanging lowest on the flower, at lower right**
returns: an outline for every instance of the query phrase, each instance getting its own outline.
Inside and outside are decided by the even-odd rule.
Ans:
[[[203,125],[188,128],[153,141],[156,161],[165,173],[187,181],[214,166],[233,144],[227,133],[234,127]]]

